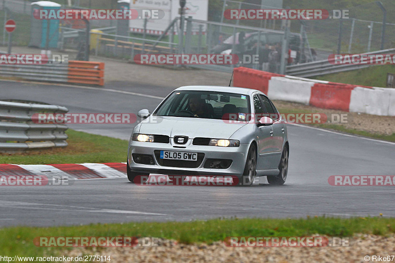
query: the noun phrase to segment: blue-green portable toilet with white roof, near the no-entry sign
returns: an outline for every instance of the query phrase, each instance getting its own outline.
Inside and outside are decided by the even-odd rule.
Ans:
[[[32,5],[32,22],[30,26],[29,46],[45,48],[47,38],[47,27],[49,26],[48,47],[58,47],[59,41],[59,20],[58,19],[36,19],[34,13],[38,9],[60,9],[62,5],[51,1],[37,1]]]

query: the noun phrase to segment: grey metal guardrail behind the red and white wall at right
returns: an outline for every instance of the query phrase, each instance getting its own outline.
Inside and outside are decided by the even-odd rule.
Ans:
[[[394,52],[395,48],[378,50],[374,52],[364,53],[364,54],[387,54]],[[367,68],[374,65],[333,65],[330,64],[328,60],[320,60],[309,63],[303,63],[298,65],[292,65],[286,67],[286,74],[300,77],[310,77],[317,75],[325,75],[331,73],[345,72],[351,70],[358,70]]]

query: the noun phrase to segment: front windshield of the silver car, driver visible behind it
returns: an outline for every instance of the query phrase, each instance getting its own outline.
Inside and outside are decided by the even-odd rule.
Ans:
[[[157,116],[246,121],[249,96],[213,91],[174,91],[154,113]]]

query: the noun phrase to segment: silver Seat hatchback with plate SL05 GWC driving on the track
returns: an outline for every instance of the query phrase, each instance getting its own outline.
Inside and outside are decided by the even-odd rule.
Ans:
[[[261,91],[237,87],[184,86],[170,93],[134,129],[127,153],[127,176],[153,174],[237,176],[252,185],[267,176],[285,183],[287,128]]]

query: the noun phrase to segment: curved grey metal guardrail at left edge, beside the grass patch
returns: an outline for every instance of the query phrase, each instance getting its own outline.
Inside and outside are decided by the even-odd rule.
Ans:
[[[64,124],[34,123],[35,113],[67,113],[65,107],[0,101],[0,151],[66,147]]]

